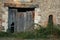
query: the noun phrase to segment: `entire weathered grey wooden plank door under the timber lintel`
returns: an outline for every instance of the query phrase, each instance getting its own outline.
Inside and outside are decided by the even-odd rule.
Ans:
[[[28,31],[34,24],[33,9],[17,9],[9,8],[8,28],[11,32]],[[23,12],[24,11],[24,12]]]

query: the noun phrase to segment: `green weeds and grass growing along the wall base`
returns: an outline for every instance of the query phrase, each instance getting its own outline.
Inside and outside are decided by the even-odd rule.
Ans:
[[[50,38],[60,37],[60,30],[56,28],[55,25],[48,25],[46,28],[40,26],[39,30],[29,31],[29,32],[20,32],[20,33],[7,33],[0,32],[0,37],[15,37],[22,39],[34,39],[34,38]],[[59,27],[59,26],[58,26]]]

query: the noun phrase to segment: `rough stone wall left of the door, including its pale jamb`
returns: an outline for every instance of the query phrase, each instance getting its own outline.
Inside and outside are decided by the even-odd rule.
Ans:
[[[2,1],[0,1],[0,31],[7,31],[8,28],[8,8],[4,7]]]

